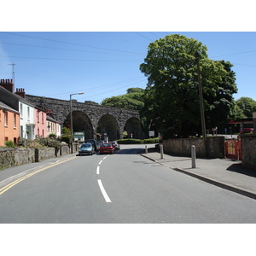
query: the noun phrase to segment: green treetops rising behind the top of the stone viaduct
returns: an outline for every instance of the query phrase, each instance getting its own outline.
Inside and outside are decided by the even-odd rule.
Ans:
[[[129,108],[139,110],[143,108],[143,89],[129,88],[127,94],[121,96],[113,96],[102,101],[103,106],[115,108]]]

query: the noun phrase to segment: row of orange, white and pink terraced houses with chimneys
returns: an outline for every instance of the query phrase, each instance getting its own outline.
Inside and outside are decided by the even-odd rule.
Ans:
[[[19,137],[33,140],[36,137],[48,137],[50,133],[55,133],[56,137],[61,136],[61,124],[53,119],[46,109],[38,108],[27,101],[23,88],[16,89],[14,92],[12,79],[0,79],[0,102],[2,106],[1,146],[4,146],[7,139],[17,143]],[[9,125],[4,125],[7,121]],[[15,126],[14,136],[8,130],[13,126]]]

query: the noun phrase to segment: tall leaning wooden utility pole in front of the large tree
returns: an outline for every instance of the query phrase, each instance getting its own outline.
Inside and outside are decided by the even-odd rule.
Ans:
[[[201,72],[199,65],[200,55],[198,52],[195,52],[195,61],[197,65],[197,75],[198,75],[198,87],[199,87],[199,96],[200,96],[200,109],[201,109],[201,131],[204,140],[205,152],[207,153],[207,135],[206,135],[206,121],[205,121],[205,110],[204,102],[201,88]]]

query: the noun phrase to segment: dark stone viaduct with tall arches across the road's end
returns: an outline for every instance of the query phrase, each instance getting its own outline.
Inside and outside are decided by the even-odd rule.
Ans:
[[[52,117],[61,127],[70,125],[70,101],[26,94],[26,100],[52,112]],[[107,134],[109,141],[127,137],[145,138],[141,129],[140,115],[137,110],[113,108],[97,104],[72,101],[73,131],[84,131],[85,139],[95,138],[96,133]],[[131,135],[132,134],[132,135]]]

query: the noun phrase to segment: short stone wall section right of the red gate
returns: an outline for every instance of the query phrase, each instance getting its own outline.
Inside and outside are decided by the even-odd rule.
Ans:
[[[256,170],[256,135],[241,136],[241,165]]]

